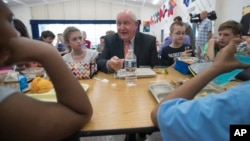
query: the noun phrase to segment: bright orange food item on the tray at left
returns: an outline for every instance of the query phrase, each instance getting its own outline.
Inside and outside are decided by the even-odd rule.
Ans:
[[[31,82],[31,93],[45,93],[48,92],[52,88],[52,83],[44,78],[36,77]]]

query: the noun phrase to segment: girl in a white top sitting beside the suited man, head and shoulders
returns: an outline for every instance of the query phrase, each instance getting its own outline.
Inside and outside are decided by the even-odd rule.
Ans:
[[[98,52],[82,48],[82,34],[76,27],[67,27],[63,32],[63,39],[69,48],[69,53],[63,56],[65,62],[93,63],[96,61]]]

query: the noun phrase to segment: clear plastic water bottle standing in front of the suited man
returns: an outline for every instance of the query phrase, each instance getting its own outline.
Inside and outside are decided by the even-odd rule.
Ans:
[[[134,51],[132,49],[128,50],[128,53],[125,57],[125,71],[126,71],[126,85],[127,86],[135,86],[136,81],[137,81],[137,76],[136,76],[136,56],[134,54]]]

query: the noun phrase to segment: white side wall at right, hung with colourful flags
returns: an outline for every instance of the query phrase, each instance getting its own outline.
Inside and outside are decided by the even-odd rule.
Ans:
[[[165,5],[168,7],[169,0],[166,0]],[[213,21],[214,35],[217,35],[218,27],[226,20],[240,21],[242,16],[242,8],[250,5],[250,0],[195,0],[193,3],[186,7],[183,0],[175,0],[177,6],[174,8],[174,15],[166,17],[163,22],[152,25],[154,33],[160,39],[160,31],[164,29],[164,37],[169,35],[169,26],[173,22],[175,16],[182,16],[184,22],[189,22],[189,13],[199,13],[202,10],[208,12],[215,10],[217,13],[217,20]],[[151,14],[153,15],[153,13]]]

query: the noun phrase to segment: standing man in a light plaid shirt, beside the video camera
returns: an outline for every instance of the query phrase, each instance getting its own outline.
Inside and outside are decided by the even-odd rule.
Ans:
[[[201,22],[197,22],[196,26],[198,29],[198,36],[196,41],[196,57],[199,59],[203,59],[201,55],[205,44],[211,39],[212,37],[212,21],[208,18],[208,12],[206,10],[200,13]]]

